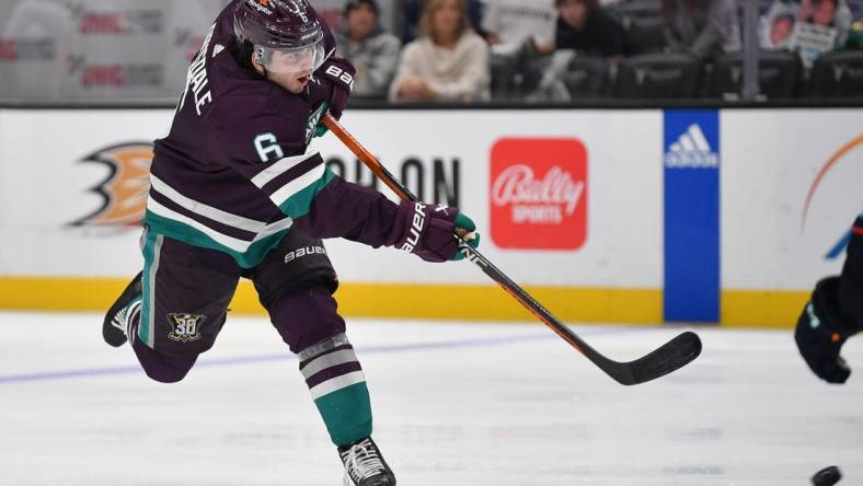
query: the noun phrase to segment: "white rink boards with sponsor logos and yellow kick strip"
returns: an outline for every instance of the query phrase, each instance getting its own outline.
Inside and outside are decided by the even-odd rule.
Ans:
[[[172,111],[0,109],[0,308],[104,308],[141,266]],[[790,326],[863,210],[861,109],[355,111],[344,125],[566,321]],[[329,135],[314,144],[371,184]],[[381,183],[378,188],[386,190]],[[525,320],[468,263],[327,241],[347,315]],[[48,299],[46,294],[51,297]],[[241,287],[235,312],[261,312]]]

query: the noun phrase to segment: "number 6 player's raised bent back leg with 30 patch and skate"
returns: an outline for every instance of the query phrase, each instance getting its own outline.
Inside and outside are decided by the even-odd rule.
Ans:
[[[147,375],[173,383],[215,343],[240,268],[225,253],[161,234],[142,241],[143,271],[112,305],[103,334],[112,346],[128,338]]]

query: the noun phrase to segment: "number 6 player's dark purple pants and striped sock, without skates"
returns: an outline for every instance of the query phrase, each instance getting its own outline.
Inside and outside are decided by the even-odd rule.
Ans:
[[[228,254],[145,231],[141,311],[130,342],[153,380],[182,380],[212,347],[240,278],[249,278],[336,445],[371,435],[366,378],[332,293],[337,280],[320,240],[291,230],[254,268]]]

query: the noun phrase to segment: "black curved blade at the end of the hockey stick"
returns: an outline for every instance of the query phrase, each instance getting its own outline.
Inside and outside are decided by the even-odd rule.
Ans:
[[[620,384],[645,383],[679,370],[701,355],[701,339],[687,331],[664,344],[653,352],[630,362],[613,362],[606,370]]]

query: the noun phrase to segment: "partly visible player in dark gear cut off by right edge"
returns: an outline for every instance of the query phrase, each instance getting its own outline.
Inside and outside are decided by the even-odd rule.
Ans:
[[[797,321],[794,339],[809,368],[829,383],[851,374],[839,356],[845,339],[863,328],[863,213],[851,228],[848,256],[839,276],[818,282]]]

